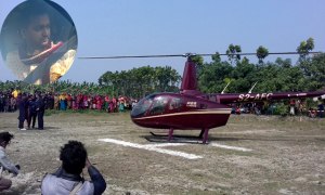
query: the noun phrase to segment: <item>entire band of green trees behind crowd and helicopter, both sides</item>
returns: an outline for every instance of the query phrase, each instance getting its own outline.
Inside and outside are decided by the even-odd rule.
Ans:
[[[253,64],[248,58],[240,58],[240,46],[230,44],[227,60],[221,61],[219,53],[212,55],[212,62],[204,62],[202,56],[194,56],[196,62],[198,88],[203,93],[220,93],[229,83],[226,93],[248,92],[256,83],[256,92],[322,91],[325,86],[325,53],[309,55],[314,48],[313,38],[302,41],[297,47],[300,57],[292,64],[290,58],[276,58],[264,62],[269,51],[257,49],[259,62]],[[50,84],[34,86],[22,81],[0,81],[0,91],[18,87],[22,91],[31,90],[125,95],[142,99],[155,92],[178,92],[182,77],[171,66],[151,67],[150,65],[122,72],[106,72],[99,82],[72,82],[57,80]]]

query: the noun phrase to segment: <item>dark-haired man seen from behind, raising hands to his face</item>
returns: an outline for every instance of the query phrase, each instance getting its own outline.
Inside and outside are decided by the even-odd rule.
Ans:
[[[81,142],[69,141],[61,147],[60,159],[62,166],[42,181],[42,195],[100,195],[105,191],[106,182],[100,171],[89,162],[87,151]],[[84,167],[91,181],[80,177]]]

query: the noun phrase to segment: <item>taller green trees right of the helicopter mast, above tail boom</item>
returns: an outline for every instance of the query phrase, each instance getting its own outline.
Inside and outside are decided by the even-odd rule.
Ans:
[[[291,92],[322,91],[325,86],[325,53],[310,56],[314,48],[313,38],[302,41],[297,48],[300,57],[296,64],[290,58],[277,57],[275,62],[264,63],[269,51],[263,47],[257,50],[257,64],[248,58],[240,58],[240,46],[231,44],[226,53],[227,61],[221,61],[219,53],[212,62],[204,63],[200,56],[197,63],[198,88],[203,93],[220,93],[229,84],[225,92],[248,92],[256,83],[256,92]]]

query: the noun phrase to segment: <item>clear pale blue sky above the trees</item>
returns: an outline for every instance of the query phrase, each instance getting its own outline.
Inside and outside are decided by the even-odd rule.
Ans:
[[[0,0],[0,26],[22,0]],[[186,58],[80,60],[84,56],[243,53],[263,46],[269,52],[295,52],[314,38],[325,51],[324,0],[54,0],[73,18],[78,35],[76,60],[60,80],[98,82],[101,75],[133,67],[171,66],[182,76]],[[297,55],[268,56],[291,58]],[[1,57],[2,58],[2,57]],[[256,56],[248,56],[257,63]],[[226,57],[222,57],[226,60]],[[211,62],[211,57],[205,57]],[[0,60],[0,80],[15,80]]]

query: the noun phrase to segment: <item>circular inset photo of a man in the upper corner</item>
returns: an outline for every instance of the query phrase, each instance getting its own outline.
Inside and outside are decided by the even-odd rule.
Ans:
[[[49,0],[28,0],[6,16],[0,34],[2,58],[20,80],[48,84],[72,66],[78,40],[69,14]]]

